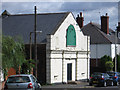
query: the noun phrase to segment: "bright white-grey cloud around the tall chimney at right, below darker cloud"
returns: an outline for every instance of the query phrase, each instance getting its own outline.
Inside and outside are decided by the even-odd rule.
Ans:
[[[96,9],[96,10],[84,12],[84,17],[86,19],[85,24],[87,24],[90,21],[101,24],[100,17],[102,15],[105,16],[106,13],[108,13],[108,16],[109,16],[110,28],[115,30],[116,25],[118,23],[118,8],[114,7],[114,6],[108,7],[108,8],[103,7],[101,9]]]

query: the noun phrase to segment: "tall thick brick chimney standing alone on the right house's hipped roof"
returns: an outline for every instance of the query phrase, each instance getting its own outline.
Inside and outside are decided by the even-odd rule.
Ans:
[[[101,16],[101,31],[109,34],[109,16],[107,13],[106,16]]]

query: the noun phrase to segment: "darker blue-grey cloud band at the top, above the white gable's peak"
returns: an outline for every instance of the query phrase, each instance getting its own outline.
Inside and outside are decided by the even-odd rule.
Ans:
[[[65,2],[61,9],[69,11],[90,11],[115,6],[116,2]]]

